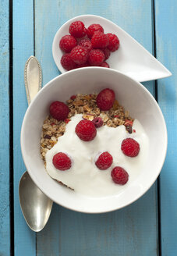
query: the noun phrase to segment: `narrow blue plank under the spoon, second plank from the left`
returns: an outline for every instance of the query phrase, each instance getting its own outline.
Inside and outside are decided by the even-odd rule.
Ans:
[[[27,109],[24,66],[34,55],[34,1],[13,1],[13,120],[14,120],[14,254],[36,255],[36,236],[27,226],[19,207],[19,179],[25,171],[20,150],[20,130]]]

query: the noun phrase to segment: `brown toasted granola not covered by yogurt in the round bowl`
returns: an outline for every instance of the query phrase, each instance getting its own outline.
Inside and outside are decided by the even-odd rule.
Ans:
[[[125,123],[133,122],[133,118],[129,116],[128,111],[119,105],[118,101],[115,100],[110,110],[101,111],[100,108],[97,108],[97,94],[76,94],[76,97],[72,98],[66,101],[66,104],[69,106],[69,116],[65,121],[58,121],[51,116],[44,120],[41,133],[41,158],[44,160],[44,163],[45,154],[57,143],[58,137],[65,133],[66,124],[76,114],[83,114],[83,119],[90,121],[95,117],[101,117],[104,126],[117,127],[125,125],[126,130],[132,133],[131,127]],[[127,122],[128,120],[130,122]]]

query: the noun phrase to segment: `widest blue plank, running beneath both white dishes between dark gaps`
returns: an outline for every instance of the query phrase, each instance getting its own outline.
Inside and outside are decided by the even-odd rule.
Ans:
[[[42,0],[35,5],[35,48],[44,84],[58,74],[51,55],[56,30],[73,16],[91,13],[117,23],[152,52],[151,1]],[[154,93],[154,83],[145,83]],[[85,215],[57,206],[50,227],[37,234],[37,255],[157,255],[155,185],[120,211]],[[48,223],[49,225],[49,223]]]

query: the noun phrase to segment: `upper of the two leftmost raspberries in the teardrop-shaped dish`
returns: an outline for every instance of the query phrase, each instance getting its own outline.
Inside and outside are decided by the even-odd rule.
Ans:
[[[59,42],[59,47],[64,52],[71,52],[71,50],[77,45],[77,41],[73,36],[66,34]]]

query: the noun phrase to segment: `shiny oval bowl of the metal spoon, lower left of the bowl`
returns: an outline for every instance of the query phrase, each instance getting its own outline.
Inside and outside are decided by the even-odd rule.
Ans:
[[[48,222],[53,202],[36,186],[28,172],[19,180],[19,203],[30,229],[41,231]]]

